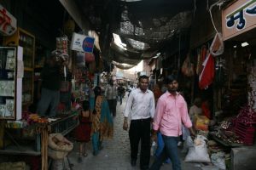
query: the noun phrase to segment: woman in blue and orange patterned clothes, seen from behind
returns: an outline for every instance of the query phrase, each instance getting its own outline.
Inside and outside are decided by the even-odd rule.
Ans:
[[[90,98],[91,139],[93,155],[102,150],[103,139],[113,138],[113,119],[109,111],[108,102],[102,96],[102,88],[93,89],[94,96]]]

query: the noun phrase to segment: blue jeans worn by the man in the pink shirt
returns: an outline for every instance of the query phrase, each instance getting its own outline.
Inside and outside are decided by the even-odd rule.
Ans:
[[[181,170],[181,163],[177,152],[177,142],[179,137],[165,136],[162,134],[165,147],[159,157],[156,157],[150,170],[160,169],[162,163],[169,157],[172,161],[172,170]]]

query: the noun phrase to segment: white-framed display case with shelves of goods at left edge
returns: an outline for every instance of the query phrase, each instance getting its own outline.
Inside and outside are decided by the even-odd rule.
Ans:
[[[22,48],[0,47],[0,119],[21,118]]]

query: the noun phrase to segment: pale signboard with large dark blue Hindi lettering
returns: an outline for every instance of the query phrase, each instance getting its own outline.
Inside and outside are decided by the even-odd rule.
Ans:
[[[256,27],[256,0],[238,0],[222,12],[224,40]]]

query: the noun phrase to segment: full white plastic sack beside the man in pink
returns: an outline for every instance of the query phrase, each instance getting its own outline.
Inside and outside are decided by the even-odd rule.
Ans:
[[[194,140],[194,146],[189,148],[185,161],[189,162],[211,162],[207,152],[207,138],[198,135]]]

